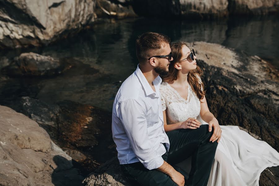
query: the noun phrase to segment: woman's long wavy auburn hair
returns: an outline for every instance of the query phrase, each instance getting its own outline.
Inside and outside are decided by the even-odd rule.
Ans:
[[[187,46],[186,42],[177,42],[170,45],[171,48],[171,56],[173,57],[173,60],[170,61],[169,65],[169,74],[165,77],[162,77],[163,81],[165,82],[172,82],[173,80],[177,80],[177,74],[178,69],[175,68],[176,63],[179,60],[181,60],[182,57],[182,47]],[[200,82],[198,76],[201,76],[203,74],[202,69],[197,65],[197,68],[194,70],[190,70],[188,73],[187,81],[189,85],[192,87],[193,91],[196,93],[199,100],[202,100],[205,96],[204,91],[204,84],[203,82]]]

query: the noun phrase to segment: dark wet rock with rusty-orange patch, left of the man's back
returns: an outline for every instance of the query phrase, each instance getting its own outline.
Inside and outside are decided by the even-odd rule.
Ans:
[[[72,101],[51,104],[28,96],[8,105],[38,122],[84,174],[116,155],[107,111]]]

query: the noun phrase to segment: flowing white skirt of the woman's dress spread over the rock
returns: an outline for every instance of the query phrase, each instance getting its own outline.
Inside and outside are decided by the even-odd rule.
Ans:
[[[200,117],[197,120],[207,124]],[[238,126],[220,127],[222,137],[217,146],[207,186],[258,186],[263,170],[279,165],[279,153],[266,142],[240,130]],[[191,158],[177,166],[185,171],[187,178],[191,169]]]

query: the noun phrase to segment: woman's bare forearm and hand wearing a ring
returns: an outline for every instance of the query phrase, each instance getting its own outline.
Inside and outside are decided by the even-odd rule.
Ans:
[[[164,129],[166,132],[173,131],[176,129],[196,129],[199,128],[201,123],[194,118],[189,117],[186,121],[184,122],[179,122],[179,123],[174,123],[167,125],[166,122],[166,110],[163,111],[163,116],[164,116]],[[189,126],[190,123],[190,126]]]

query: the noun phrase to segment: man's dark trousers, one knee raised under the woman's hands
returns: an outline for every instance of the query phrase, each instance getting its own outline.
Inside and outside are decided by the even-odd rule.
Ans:
[[[162,155],[166,162],[174,165],[192,156],[189,178],[185,179],[187,186],[207,185],[217,148],[216,141],[209,142],[212,134],[213,129],[209,132],[208,125],[201,125],[197,129],[179,129],[167,132],[170,149]],[[121,169],[133,185],[177,185],[168,175],[155,169],[148,170],[140,162],[121,165]],[[176,170],[181,172],[177,168]]]

